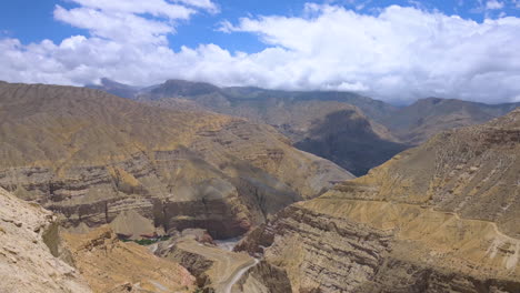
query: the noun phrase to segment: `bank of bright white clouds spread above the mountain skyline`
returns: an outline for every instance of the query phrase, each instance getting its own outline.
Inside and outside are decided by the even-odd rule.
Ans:
[[[222,22],[227,33],[251,33],[267,49],[230,52],[216,44],[173,51],[166,36],[180,12],[153,9],[151,2],[181,6],[186,18],[213,11],[209,0],[177,2],[73,0],[54,17],[90,36],[61,43],[22,44],[0,40],[0,79],[84,84],[109,77],[131,84],[170,78],[219,85],[357,91],[388,101],[423,97],[484,102],[520,98],[520,19],[482,23],[440,12],[398,6],[362,14],[333,4],[306,4],[300,17],[264,16]],[[103,3],[110,2],[109,6]],[[149,13],[154,18],[144,18]]]

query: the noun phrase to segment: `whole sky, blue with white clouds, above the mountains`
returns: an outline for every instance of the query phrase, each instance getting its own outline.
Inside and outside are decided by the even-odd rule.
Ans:
[[[16,0],[0,80],[520,102],[520,0]]]

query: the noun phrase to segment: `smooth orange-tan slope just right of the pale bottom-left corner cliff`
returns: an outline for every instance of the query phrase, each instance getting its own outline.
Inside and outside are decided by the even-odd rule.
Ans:
[[[178,263],[147,247],[119,241],[109,226],[88,234],[63,234],[82,276],[94,292],[193,292],[194,277]]]

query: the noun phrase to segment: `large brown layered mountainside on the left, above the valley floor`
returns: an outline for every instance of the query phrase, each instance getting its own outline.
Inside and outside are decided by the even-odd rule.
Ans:
[[[267,125],[72,87],[0,84],[0,186],[122,234],[231,238],[352,178]]]

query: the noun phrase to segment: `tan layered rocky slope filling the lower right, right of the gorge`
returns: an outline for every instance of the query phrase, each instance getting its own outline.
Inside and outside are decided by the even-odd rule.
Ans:
[[[293,204],[238,250],[292,292],[519,292],[520,109]]]

